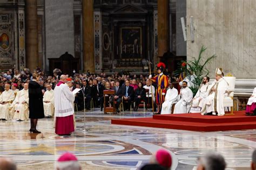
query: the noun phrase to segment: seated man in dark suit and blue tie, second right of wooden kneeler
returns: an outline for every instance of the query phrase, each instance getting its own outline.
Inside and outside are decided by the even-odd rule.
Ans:
[[[131,102],[134,99],[134,90],[133,87],[130,86],[129,80],[125,81],[125,86],[123,88],[123,97],[125,110],[130,110]]]

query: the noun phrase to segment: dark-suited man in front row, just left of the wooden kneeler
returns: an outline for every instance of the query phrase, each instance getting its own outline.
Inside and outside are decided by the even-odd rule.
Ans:
[[[103,96],[103,86],[98,83],[97,79],[92,80],[92,98],[95,107],[98,107],[100,104],[100,98]]]

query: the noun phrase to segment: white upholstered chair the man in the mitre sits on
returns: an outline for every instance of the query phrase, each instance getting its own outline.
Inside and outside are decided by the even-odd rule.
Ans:
[[[227,94],[224,97],[224,107],[231,107],[231,115],[233,115],[233,96],[234,96],[234,87],[235,87],[235,77],[223,77],[228,83]]]

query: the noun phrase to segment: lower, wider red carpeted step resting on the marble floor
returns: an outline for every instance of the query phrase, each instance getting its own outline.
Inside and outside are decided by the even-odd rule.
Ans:
[[[256,122],[234,122],[234,123],[199,123],[199,122],[181,122],[166,121],[153,118],[132,118],[132,119],[112,119],[112,124],[146,126],[151,128],[179,129],[190,131],[227,131],[227,130],[245,130],[256,129]]]

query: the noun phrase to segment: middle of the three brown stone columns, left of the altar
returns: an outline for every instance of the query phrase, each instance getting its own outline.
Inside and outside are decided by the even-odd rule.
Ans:
[[[83,71],[95,72],[93,0],[83,0]]]

